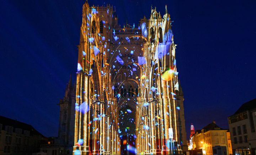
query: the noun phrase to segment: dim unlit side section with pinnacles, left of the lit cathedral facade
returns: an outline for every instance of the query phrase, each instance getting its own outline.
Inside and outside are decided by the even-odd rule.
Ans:
[[[60,103],[59,133],[58,138],[52,137],[48,142],[41,145],[41,151],[47,155],[68,155],[73,154],[75,134],[75,92],[76,85],[72,85],[70,75],[66,84],[65,96]]]

